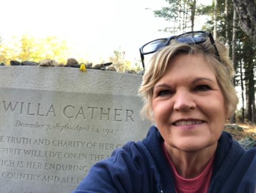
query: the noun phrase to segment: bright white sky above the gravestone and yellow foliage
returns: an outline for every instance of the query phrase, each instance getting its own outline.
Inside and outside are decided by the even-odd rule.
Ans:
[[[165,5],[164,0],[1,0],[0,35],[4,41],[26,33],[58,36],[73,50],[70,57],[92,62],[107,62],[121,47],[134,61],[141,45],[170,36],[158,31],[170,23],[153,13]]]

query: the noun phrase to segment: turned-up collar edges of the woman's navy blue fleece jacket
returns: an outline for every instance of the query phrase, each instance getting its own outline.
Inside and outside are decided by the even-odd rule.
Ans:
[[[174,192],[174,177],[171,167],[169,166],[163,152],[163,138],[155,126],[151,126],[147,137],[142,141],[153,157],[161,178],[161,185],[164,192]],[[237,160],[244,154],[245,150],[233,141],[232,136],[223,131],[220,139],[213,163],[213,176],[209,192],[218,192],[228,178],[229,173],[233,169]],[[155,166],[156,165],[156,166]],[[213,188],[214,187],[214,188]]]

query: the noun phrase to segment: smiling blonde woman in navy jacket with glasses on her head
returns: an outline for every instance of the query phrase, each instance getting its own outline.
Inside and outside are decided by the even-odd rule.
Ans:
[[[145,44],[142,63],[154,52],[139,93],[155,126],[95,164],[75,192],[256,192],[256,149],[223,132],[238,103],[225,46],[196,31]]]

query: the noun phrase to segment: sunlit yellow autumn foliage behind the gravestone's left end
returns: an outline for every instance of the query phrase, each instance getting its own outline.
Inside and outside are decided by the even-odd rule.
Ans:
[[[13,42],[0,45],[0,62],[9,63],[10,60],[31,60],[39,62],[43,59],[53,59],[65,63],[69,49],[66,41],[55,36],[36,39],[25,34],[21,38],[13,37]]]

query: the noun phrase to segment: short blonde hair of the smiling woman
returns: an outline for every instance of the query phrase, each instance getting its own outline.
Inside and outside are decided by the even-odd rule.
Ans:
[[[238,103],[238,97],[235,87],[231,83],[235,76],[233,63],[229,60],[228,50],[226,46],[216,41],[220,60],[216,55],[216,50],[210,41],[201,44],[189,45],[185,43],[172,43],[169,46],[157,51],[151,58],[149,65],[146,67],[145,74],[143,75],[142,84],[139,89],[144,105],[141,110],[142,118],[153,120],[153,110],[151,101],[153,99],[154,85],[163,76],[166,69],[172,65],[170,61],[178,54],[203,54],[206,61],[212,67],[214,74],[217,78],[218,84],[225,99],[225,107],[228,116],[234,114]]]

